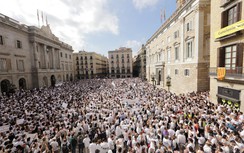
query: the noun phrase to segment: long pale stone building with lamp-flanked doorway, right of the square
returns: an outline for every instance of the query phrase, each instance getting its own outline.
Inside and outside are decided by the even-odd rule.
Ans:
[[[147,80],[176,94],[209,90],[210,0],[177,6],[145,45]]]

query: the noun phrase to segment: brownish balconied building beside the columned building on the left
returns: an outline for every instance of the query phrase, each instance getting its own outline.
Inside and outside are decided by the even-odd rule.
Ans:
[[[108,77],[108,58],[95,52],[73,53],[76,79]]]

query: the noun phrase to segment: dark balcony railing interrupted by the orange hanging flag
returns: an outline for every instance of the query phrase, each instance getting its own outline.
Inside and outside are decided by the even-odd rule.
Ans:
[[[210,76],[217,76],[218,67],[210,67],[209,68],[209,75]],[[226,69],[225,77],[236,77],[244,79],[244,67],[236,67],[234,70]]]

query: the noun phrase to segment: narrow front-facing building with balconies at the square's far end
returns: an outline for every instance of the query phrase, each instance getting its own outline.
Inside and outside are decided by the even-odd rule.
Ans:
[[[131,48],[120,47],[108,51],[109,77],[110,78],[131,78],[132,77],[132,50]]]

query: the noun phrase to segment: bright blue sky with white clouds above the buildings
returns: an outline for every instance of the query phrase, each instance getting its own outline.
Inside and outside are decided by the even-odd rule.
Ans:
[[[5,0],[0,5],[1,14],[21,24],[40,27],[47,21],[74,52],[105,56],[119,47],[132,48],[135,55],[164,23],[161,14],[167,19],[175,10],[176,0]]]

